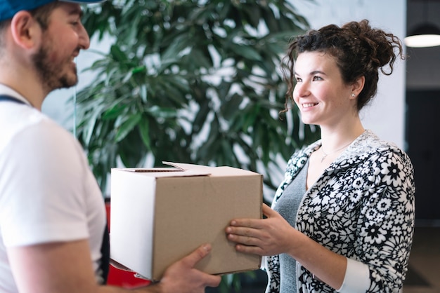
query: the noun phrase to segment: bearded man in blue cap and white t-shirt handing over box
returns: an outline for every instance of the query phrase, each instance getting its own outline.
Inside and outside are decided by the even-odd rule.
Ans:
[[[126,292],[105,280],[105,207],[75,137],[41,114],[75,86],[89,48],[79,3],[0,0],[0,292]],[[196,270],[209,245],[134,292],[205,292],[219,276]]]

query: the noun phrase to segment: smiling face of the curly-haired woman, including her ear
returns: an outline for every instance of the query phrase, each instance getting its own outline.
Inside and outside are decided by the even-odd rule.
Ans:
[[[357,115],[353,86],[342,80],[335,58],[321,52],[300,53],[295,62],[293,98],[303,123],[333,127]]]

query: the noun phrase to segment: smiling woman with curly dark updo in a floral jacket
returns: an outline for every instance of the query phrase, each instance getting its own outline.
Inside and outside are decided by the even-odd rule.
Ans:
[[[413,165],[359,118],[376,94],[378,70],[392,74],[396,57],[403,59],[401,41],[368,20],[290,43],[286,100],[304,123],[320,126],[321,139],[290,158],[265,219],[234,219],[226,228],[236,250],[268,256],[266,292],[401,289],[413,241]]]

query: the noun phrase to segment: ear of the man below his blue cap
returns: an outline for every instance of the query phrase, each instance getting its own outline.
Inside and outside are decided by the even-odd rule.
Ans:
[[[29,11],[19,11],[11,20],[11,34],[18,46],[30,49],[39,43],[41,27]]]

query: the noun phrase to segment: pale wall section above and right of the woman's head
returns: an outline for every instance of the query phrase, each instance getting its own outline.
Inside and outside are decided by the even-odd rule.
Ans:
[[[291,0],[313,29],[324,25],[343,25],[352,20],[370,20],[372,27],[399,36],[406,34],[406,0]],[[361,113],[365,128],[382,139],[405,148],[405,71],[406,62],[396,62],[391,76],[380,75],[377,96]]]

